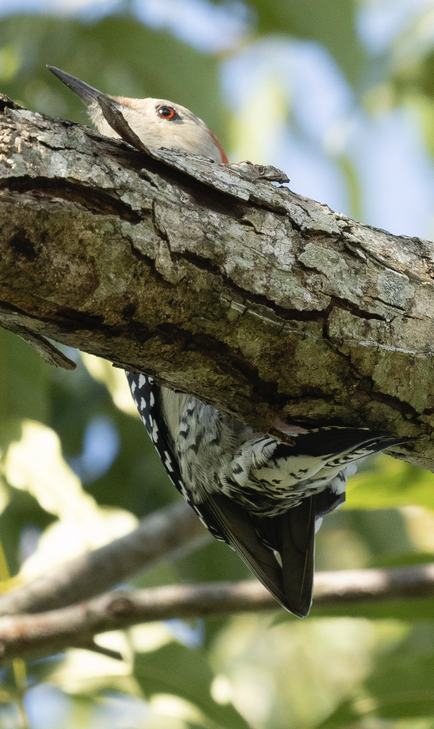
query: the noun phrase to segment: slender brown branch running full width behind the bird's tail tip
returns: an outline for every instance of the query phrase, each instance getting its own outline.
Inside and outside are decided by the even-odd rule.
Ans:
[[[432,596],[434,564],[315,575],[316,607]],[[257,580],[109,593],[39,615],[1,617],[0,655],[7,660],[53,653],[69,646],[94,650],[96,634],[137,623],[274,609],[279,606]]]

